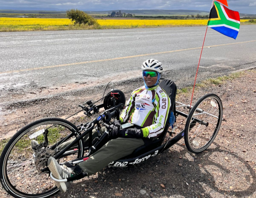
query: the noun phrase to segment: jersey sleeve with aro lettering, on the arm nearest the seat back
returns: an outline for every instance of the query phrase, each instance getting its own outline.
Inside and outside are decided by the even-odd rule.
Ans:
[[[164,130],[164,127],[169,120],[169,110],[171,107],[171,100],[163,89],[155,95],[156,113],[154,116],[153,124],[142,129],[143,137],[158,137]]]

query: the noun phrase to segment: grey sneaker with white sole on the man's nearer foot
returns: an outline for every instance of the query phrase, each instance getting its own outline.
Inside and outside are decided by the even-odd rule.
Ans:
[[[48,168],[52,172],[52,175],[56,179],[66,179],[69,177],[73,177],[76,175],[73,170],[64,164],[61,166],[58,164],[58,162],[55,160],[55,158],[50,157],[48,160]],[[55,185],[58,187],[58,189],[61,192],[66,192],[67,188],[70,186],[70,182],[57,182],[55,181]]]

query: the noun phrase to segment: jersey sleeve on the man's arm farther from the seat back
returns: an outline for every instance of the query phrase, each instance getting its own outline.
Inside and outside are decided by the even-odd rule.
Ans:
[[[122,110],[122,113],[120,115],[120,121],[121,123],[125,123],[130,118],[131,114],[134,112],[134,106],[135,106],[135,96],[136,93],[140,92],[142,88],[136,89],[131,93],[131,97],[127,101],[125,108]]]

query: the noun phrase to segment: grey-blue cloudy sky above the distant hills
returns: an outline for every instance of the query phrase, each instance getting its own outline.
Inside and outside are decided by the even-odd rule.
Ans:
[[[256,0],[227,0],[229,9],[256,14]],[[209,11],[212,0],[0,0],[0,9],[104,11],[116,9],[190,9]]]

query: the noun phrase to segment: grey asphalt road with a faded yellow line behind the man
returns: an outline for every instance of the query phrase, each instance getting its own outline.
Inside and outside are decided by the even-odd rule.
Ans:
[[[206,27],[0,32],[0,100],[8,92],[141,75],[144,60],[163,63],[167,77],[193,83]],[[208,29],[199,78],[256,66],[256,25],[236,40]]]

